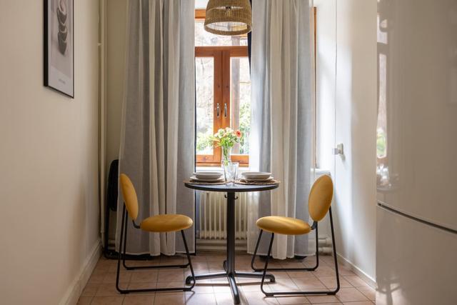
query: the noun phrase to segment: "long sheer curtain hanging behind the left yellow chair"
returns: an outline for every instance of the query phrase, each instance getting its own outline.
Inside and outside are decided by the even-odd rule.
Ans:
[[[194,219],[194,191],[183,181],[194,171],[194,1],[129,0],[126,96],[119,171],[139,197],[139,221],[157,214]],[[116,244],[119,246],[119,196]],[[195,251],[194,228],[186,230]],[[127,253],[184,252],[181,236],[149,234],[129,221]]]

